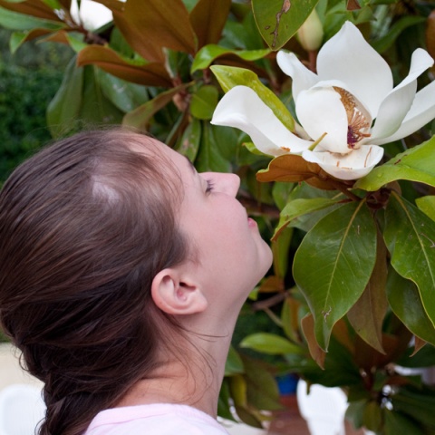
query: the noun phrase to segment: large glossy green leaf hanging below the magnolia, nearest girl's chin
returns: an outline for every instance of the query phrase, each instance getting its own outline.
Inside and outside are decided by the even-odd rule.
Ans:
[[[362,295],[375,260],[376,227],[364,201],[326,215],[297,249],[295,282],[314,315],[315,337],[324,351],[333,325]]]

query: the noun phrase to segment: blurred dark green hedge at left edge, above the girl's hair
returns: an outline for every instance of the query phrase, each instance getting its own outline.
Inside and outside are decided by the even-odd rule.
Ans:
[[[0,182],[51,140],[45,113],[72,53],[67,46],[33,42],[11,54],[10,34],[0,29]]]

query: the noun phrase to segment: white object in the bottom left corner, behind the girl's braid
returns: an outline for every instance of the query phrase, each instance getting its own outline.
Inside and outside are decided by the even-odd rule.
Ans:
[[[44,414],[40,388],[14,383],[0,391],[0,435],[34,435]]]

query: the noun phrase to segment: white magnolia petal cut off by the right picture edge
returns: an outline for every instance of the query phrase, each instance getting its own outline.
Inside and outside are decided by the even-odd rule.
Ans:
[[[426,87],[415,94],[411,110],[405,116],[401,127],[391,136],[379,140],[371,140],[376,145],[393,142],[409,136],[435,118],[435,82],[430,82]]]

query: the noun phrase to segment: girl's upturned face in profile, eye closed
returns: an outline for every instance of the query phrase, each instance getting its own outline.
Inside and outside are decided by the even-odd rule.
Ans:
[[[224,293],[231,295],[227,302],[243,303],[271,266],[272,252],[236,199],[240,179],[234,174],[198,173],[188,159],[161,143],[157,151],[171,160],[183,184],[179,227],[192,247],[191,266],[198,280],[209,295]]]

